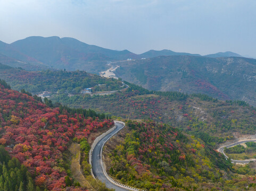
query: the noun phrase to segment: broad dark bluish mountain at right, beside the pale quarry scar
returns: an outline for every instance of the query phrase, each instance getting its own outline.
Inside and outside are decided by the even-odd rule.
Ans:
[[[149,90],[203,93],[256,106],[256,60],[241,57],[160,56],[117,62],[115,75]]]

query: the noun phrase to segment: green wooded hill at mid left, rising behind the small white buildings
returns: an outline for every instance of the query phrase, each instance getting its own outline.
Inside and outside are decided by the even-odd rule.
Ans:
[[[84,71],[30,72],[0,63],[0,77],[9,83],[12,89],[24,89],[33,94],[42,91],[77,94],[85,88],[93,88],[92,91],[95,92],[123,89],[121,81],[106,79]]]

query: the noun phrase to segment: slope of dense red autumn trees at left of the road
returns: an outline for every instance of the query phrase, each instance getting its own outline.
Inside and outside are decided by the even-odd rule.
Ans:
[[[103,116],[93,116],[95,112],[89,112],[92,117],[85,117],[86,114],[70,113],[65,107],[47,107],[26,93],[0,85],[0,144],[28,169],[35,186],[63,190],[69,173],[64,153],[70,141],[82,140],[91,132],[114,124]],[[24,181],[23,186],[27,183]]]

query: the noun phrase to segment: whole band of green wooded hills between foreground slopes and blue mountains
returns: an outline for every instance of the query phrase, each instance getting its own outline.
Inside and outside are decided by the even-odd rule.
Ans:
[[[28,72],[0,65],[0,76],[17,90],[52,91],[53,102],[93,108],[122,118],[160,121],[195,133],[213,145],[233,139],[237,134],[256,133],[255,109],[244,101],[221,101],[204,94],[149,91],[129,82],[125,82],[130,87],[125,92],[101,96],[80,94],[82,89],[90,87],[93,91],[124,88],[119,80],[82,71]]]

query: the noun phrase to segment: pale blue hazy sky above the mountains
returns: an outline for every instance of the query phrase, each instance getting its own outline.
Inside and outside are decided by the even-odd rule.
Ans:
[[[256,57],[255,0],[0,0],[0,40],[73,37],[134,53]]]

